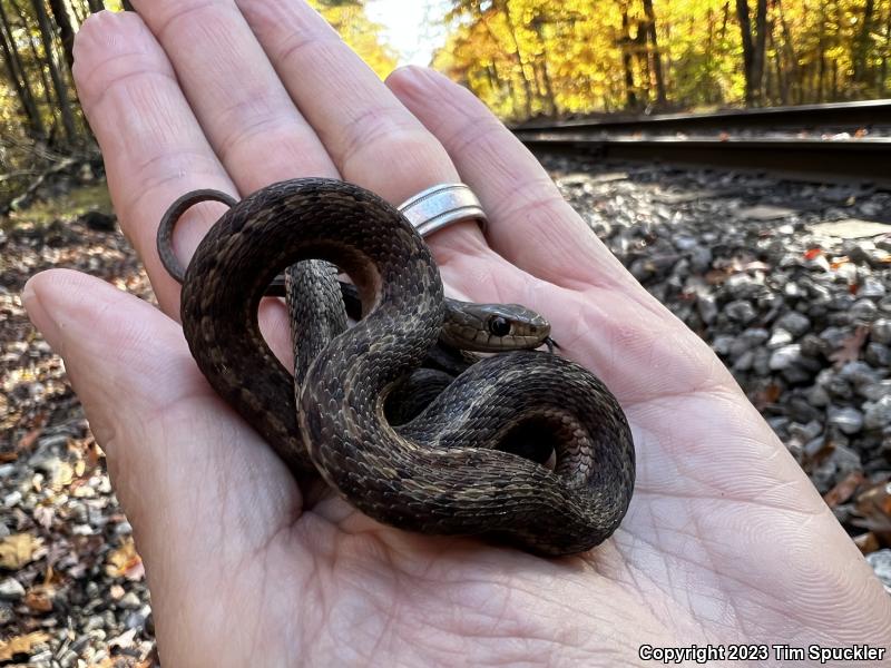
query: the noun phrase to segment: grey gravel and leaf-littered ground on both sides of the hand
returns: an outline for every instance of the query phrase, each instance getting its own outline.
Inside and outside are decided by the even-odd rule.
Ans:
[[[629,271],[725,360],[891,591],[891,195],[546,164]],[[0,665],[156,662],[105,456],[19,298],[35,273],[71,267],[151,301],[109,213],[96,186],[0,228]]]

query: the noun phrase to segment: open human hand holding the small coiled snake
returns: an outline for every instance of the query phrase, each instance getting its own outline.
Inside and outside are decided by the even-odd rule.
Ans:
[[[160,311],[65,271],[25,301],[106,450],[165,665],[615,666],[642,644],[888,645],[887,595],[782,443],[476,98],[418,68],[384,86],[302,2],[134,4],[141,18],[87,21],[76,79]],[[430,239],[447,284],[545,314],[631,423],[637,489],[609,541],[547,560],[380,525],[305,497],[210,391],[157,224],[185,191],[300,176],[394,204],[441,181],[474,189],[487,237],[464,223]],[[178,226],[180,259],[221,210]],[[267,302],[264,331],[286,351],[285,310]]]

